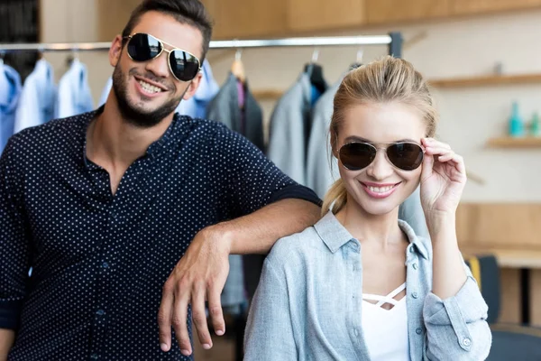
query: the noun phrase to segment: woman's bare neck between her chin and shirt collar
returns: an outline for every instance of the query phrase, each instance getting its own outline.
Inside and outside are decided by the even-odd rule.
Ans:
[[[396,246],[404,240],[399,227],[399,208],[387,214],[372,215],[353,199],[336,214],[338,221],[361,243]]]

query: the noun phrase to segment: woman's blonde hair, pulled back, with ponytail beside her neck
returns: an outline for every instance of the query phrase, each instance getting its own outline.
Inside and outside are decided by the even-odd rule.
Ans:
[[[437,112],[426,80],[410,62],[386,56],[350,71],[336,91],[333,116],[329,128],[331,157],[338,141],[338,131],[349,106],[366,103],[400,102],[416,107],[426,122],[426,136],[436,134]],[[338,213],[347,202],[347,190],[342,179],[327,191],[322,208],[326,214],[332,206]]]

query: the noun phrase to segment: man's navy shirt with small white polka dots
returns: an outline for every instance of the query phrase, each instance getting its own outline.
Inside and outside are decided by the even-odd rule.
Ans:
[[[23,130],[2,154],[0,329],[17,333],[9,360],[191,359],[176,341],[160,351],[157,314],[197,232],[279,199],[320,203],[240,134],[179,115],[112,195],[108,173],[85,156],[101,111]]]

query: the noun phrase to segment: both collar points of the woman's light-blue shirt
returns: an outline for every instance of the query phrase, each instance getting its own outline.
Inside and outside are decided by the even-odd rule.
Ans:
[[[418,236],[416,236],[413,228],[408,225],[408,222],[399,219],[399,227],[406,233],[406,236],[408,236],[409,244],[414,247],[420,255],[429,259],[426,245]],[[316,229],[317,235],[321,237],[332,253],[335,253],[343,245],[347,244],[352,239],[355,239],[338,219],[336,219],[332,211],[327,212],[327,214],[316,223],[314,228]]]

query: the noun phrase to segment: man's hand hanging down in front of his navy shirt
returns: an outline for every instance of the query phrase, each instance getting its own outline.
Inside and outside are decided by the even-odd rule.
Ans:
[[[163,351],[170,350],[172,325],[182,355],[191,355],[187,326],[188,303],[192,305],[197,336],[203,348],[212,347],[212,338],[206,325],[205,301],[208,301],[216,335],[225,333],[220,295],[229,273],[231,237],[220,228],[219,225],[207,227],[197,234],[163,286],[158,313],[160,347]]]

